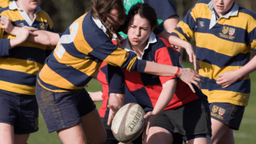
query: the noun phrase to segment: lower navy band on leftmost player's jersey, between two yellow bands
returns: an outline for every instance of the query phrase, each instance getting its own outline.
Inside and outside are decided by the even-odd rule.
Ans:
[[[9,83],[15,83],[20,85],[35,86],[36,75],[22,73],[20,71],[0,69],[0,81],[6,81]]]

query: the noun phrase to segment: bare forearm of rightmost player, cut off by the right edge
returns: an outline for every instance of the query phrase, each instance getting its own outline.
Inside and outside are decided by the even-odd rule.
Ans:
[[[236,71],[237,75],[239,78],[245,77],[245,75],[249,75],[249,73],[253,72],[256,70],[256,56],[249,61],[245,66],[241,67],[241,69],[238,69]]]

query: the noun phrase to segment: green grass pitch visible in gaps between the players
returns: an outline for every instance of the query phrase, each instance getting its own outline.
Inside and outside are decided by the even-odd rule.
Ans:
[[[184,63],[185,67],[192,67],[190,63]],[[234,131],[236,144],[251,144],[256,141],[256,72],[250,74],[251,77],[251,98],[249,105],[245,108],[242,124],[239,131]],[[92,79],[86,89],[90,92],[97,92],[102,89],[101,84]],[[96,102],[97,108],[102,102]],[[28,144],[61,144],[56,132],[49,134],[42,115],[39,116],[39,131],[32,133],[28,139]]]

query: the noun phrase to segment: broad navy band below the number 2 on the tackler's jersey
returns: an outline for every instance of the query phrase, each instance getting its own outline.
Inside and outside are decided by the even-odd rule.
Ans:
[[[49,61],[50,59],[51,61]],[[82,73],[72,66],[59,63],[57,59],[55,59],[54,55],[50,55],[46,59],[46,63],[55,73],[58,73],[58,75],[61,75],[61,77],[65,77],[67,81],[77,87],[84,87],[92,79],[92,77],[86,75],[86,73]]]

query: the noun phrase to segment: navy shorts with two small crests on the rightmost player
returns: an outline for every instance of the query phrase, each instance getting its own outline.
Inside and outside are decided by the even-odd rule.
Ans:
[[[238,130],[245,112],[245,106],[213,102],[209,105],[212,118],[227,124],[230,129]]]

